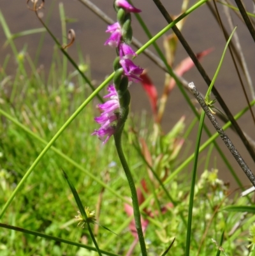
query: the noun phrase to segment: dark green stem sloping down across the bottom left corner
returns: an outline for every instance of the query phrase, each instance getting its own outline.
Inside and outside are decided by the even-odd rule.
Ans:
[[[4,223],[0,223],[0,227],[3,227],[4,229],[10,229],[10,230],[15,230],[18,232],[22,232],[24,234],[29,234],[29,235],[33,235],[33,236],[39,236],[39,237],[43,237],[52,241],[57,241],[60,243],[66,243],[67,245],[73,245],[73,246],[77,246],[78,248],[85,248],[87,250],[91,250],[96,252],[96,248],[89,246],[89,245],[84,245],[82,243],[75,243],[73,241],[67,240],[67,239],[62,239],[60,237],[56,237],[56,236],[49,236],[47,234],[43,234],[40,232],[36,232],[33,230],[29,230],[29,229],[22,229],[21,227],[15,227],[15,226],[11,226],[11,225],[7,225]],[[101,253],[105,254],[105,255],[109,255],[109,256],[119,256],[115,253],[110,253],[110,252],[106,252],[104,250],[100,250]]]

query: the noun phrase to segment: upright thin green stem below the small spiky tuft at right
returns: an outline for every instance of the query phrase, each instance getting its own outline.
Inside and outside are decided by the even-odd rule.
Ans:
[[[196,185],[196,169],[198,167],[198,155],[200,151],[200,140],[203,132],[203,122],[205,120],[205,112],[203,111],[200,117],[200,124],[198,127],[198,135],[196,137],[196,147],[194,151],[194,165],[191,180],[191,192],[189,194],[189,214],[187,218],[187,236],[186,236],[186,250],[185,255],[189,256],[189,247],[191,246],[191,224],[192,224],[192,213],[193,213],[193,202],[194,202],[194,190]]]

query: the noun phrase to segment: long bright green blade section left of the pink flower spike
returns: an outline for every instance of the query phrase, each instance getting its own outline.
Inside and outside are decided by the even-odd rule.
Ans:
[[[43,151],[41,151],[41,153],[36,158],[36,160],[34,160],[34,162],[31,165],[31,167],[27,170],[25,175],[22,177],[20,183],[18,183],[18,185],[15,188],[15,190],[13,191],[13,193],[11,193],[11,196],[7,200],[6,204],[4,204],[4,207],[3,207],[3,209],[2,209],[2,211],[0,213],[0,219],[3,217],[4,213],[6,212],[6,209],[8,208],[8,206],[10,206],[10,204],[11,204],[12,200],[14,199],[15,195],[17,195],[18,191],[20,190],[22,185],[25,183],[25,181],[27,180],[27,178],[29,177],[31,172],[33,172],[34,168],[36,167],[36,165],[38,165],[38,163],[40,162],[41,158],[43,158],[43,156],[47,153],[48,149],[50,149],[50,147],[54,144],[54,142],[61,135],[61,133],[64,132],[64,130],[73,121],[73,119],[75,119],[75,117],[77,117],[78,114],[80,114],[80,112],[84,109],[84,107],[86,107],[86,105],[89,102],[91,102],[91,100],[99,93],[99,91],[101,91],[101,89],[103,89],[103,87],[105,87],[110,82],[110,80],[112,80],[112,79],[113,79],[113,73],[98,88],[96,88],[95,91],[93,91],[93,93],[87,98],[87,100],[85,100],[85,102],[82,103],[82,105],[80,105],[80,107],[78,107],[78,109],[69,117],[68,121],[66,121],[66,123],[63,124],[63,126],[54,135],[54,137],[50,140],[50,142],[48,142],[47,146],[43,149]]]

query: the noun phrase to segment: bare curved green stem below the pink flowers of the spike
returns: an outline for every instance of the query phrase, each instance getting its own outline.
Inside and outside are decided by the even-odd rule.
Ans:
[[[145,240],[143,237],[141,213],[140,213],[140,209],[139,209],[139,203],[138,203],[138,197],[137,197],[137,193],[136,193],[135,182],[133,180],[132,174],[128,167],[128,163],[127,163],[124,153],[122,151],[122,145],[121,145],[122,129],[123,129],[123,127],[120,128],[120,130],[117,131],[117,133],[115,133],[115,135],[114,135],[115,146],[116,146],[119,158],[120,158],[120,162],[122,164],[122,167],[123,167],[126,177],[128,179],[128,184],[129,184],[129,188],[131,191],[132,204],[133,204],[134,217],[135,217],[135,225],[136,225],[138,239],[139,239],[139,243],[140,243],[140,247],[141,247],[141,252],[142,252],[143,256],[147,256],[147,250],[146,250],[146,246],[145,246]]]

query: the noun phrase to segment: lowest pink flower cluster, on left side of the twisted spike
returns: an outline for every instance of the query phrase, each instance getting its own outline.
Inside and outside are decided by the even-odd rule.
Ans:
[[[98,130],[95,130],[92,135],[97,135],[100,140],[103,140],[105,144],[110,137],[115,133],[114,121],[117,120],[116,110],[119,110],[119,97],[115,87],[110,85],[107,87],[108,94],[104,98],[110,98],[108,102],[99,104],[99,109],[103,110],[101,116],[95,117],[94,120],[101,124],[101,127]]]

